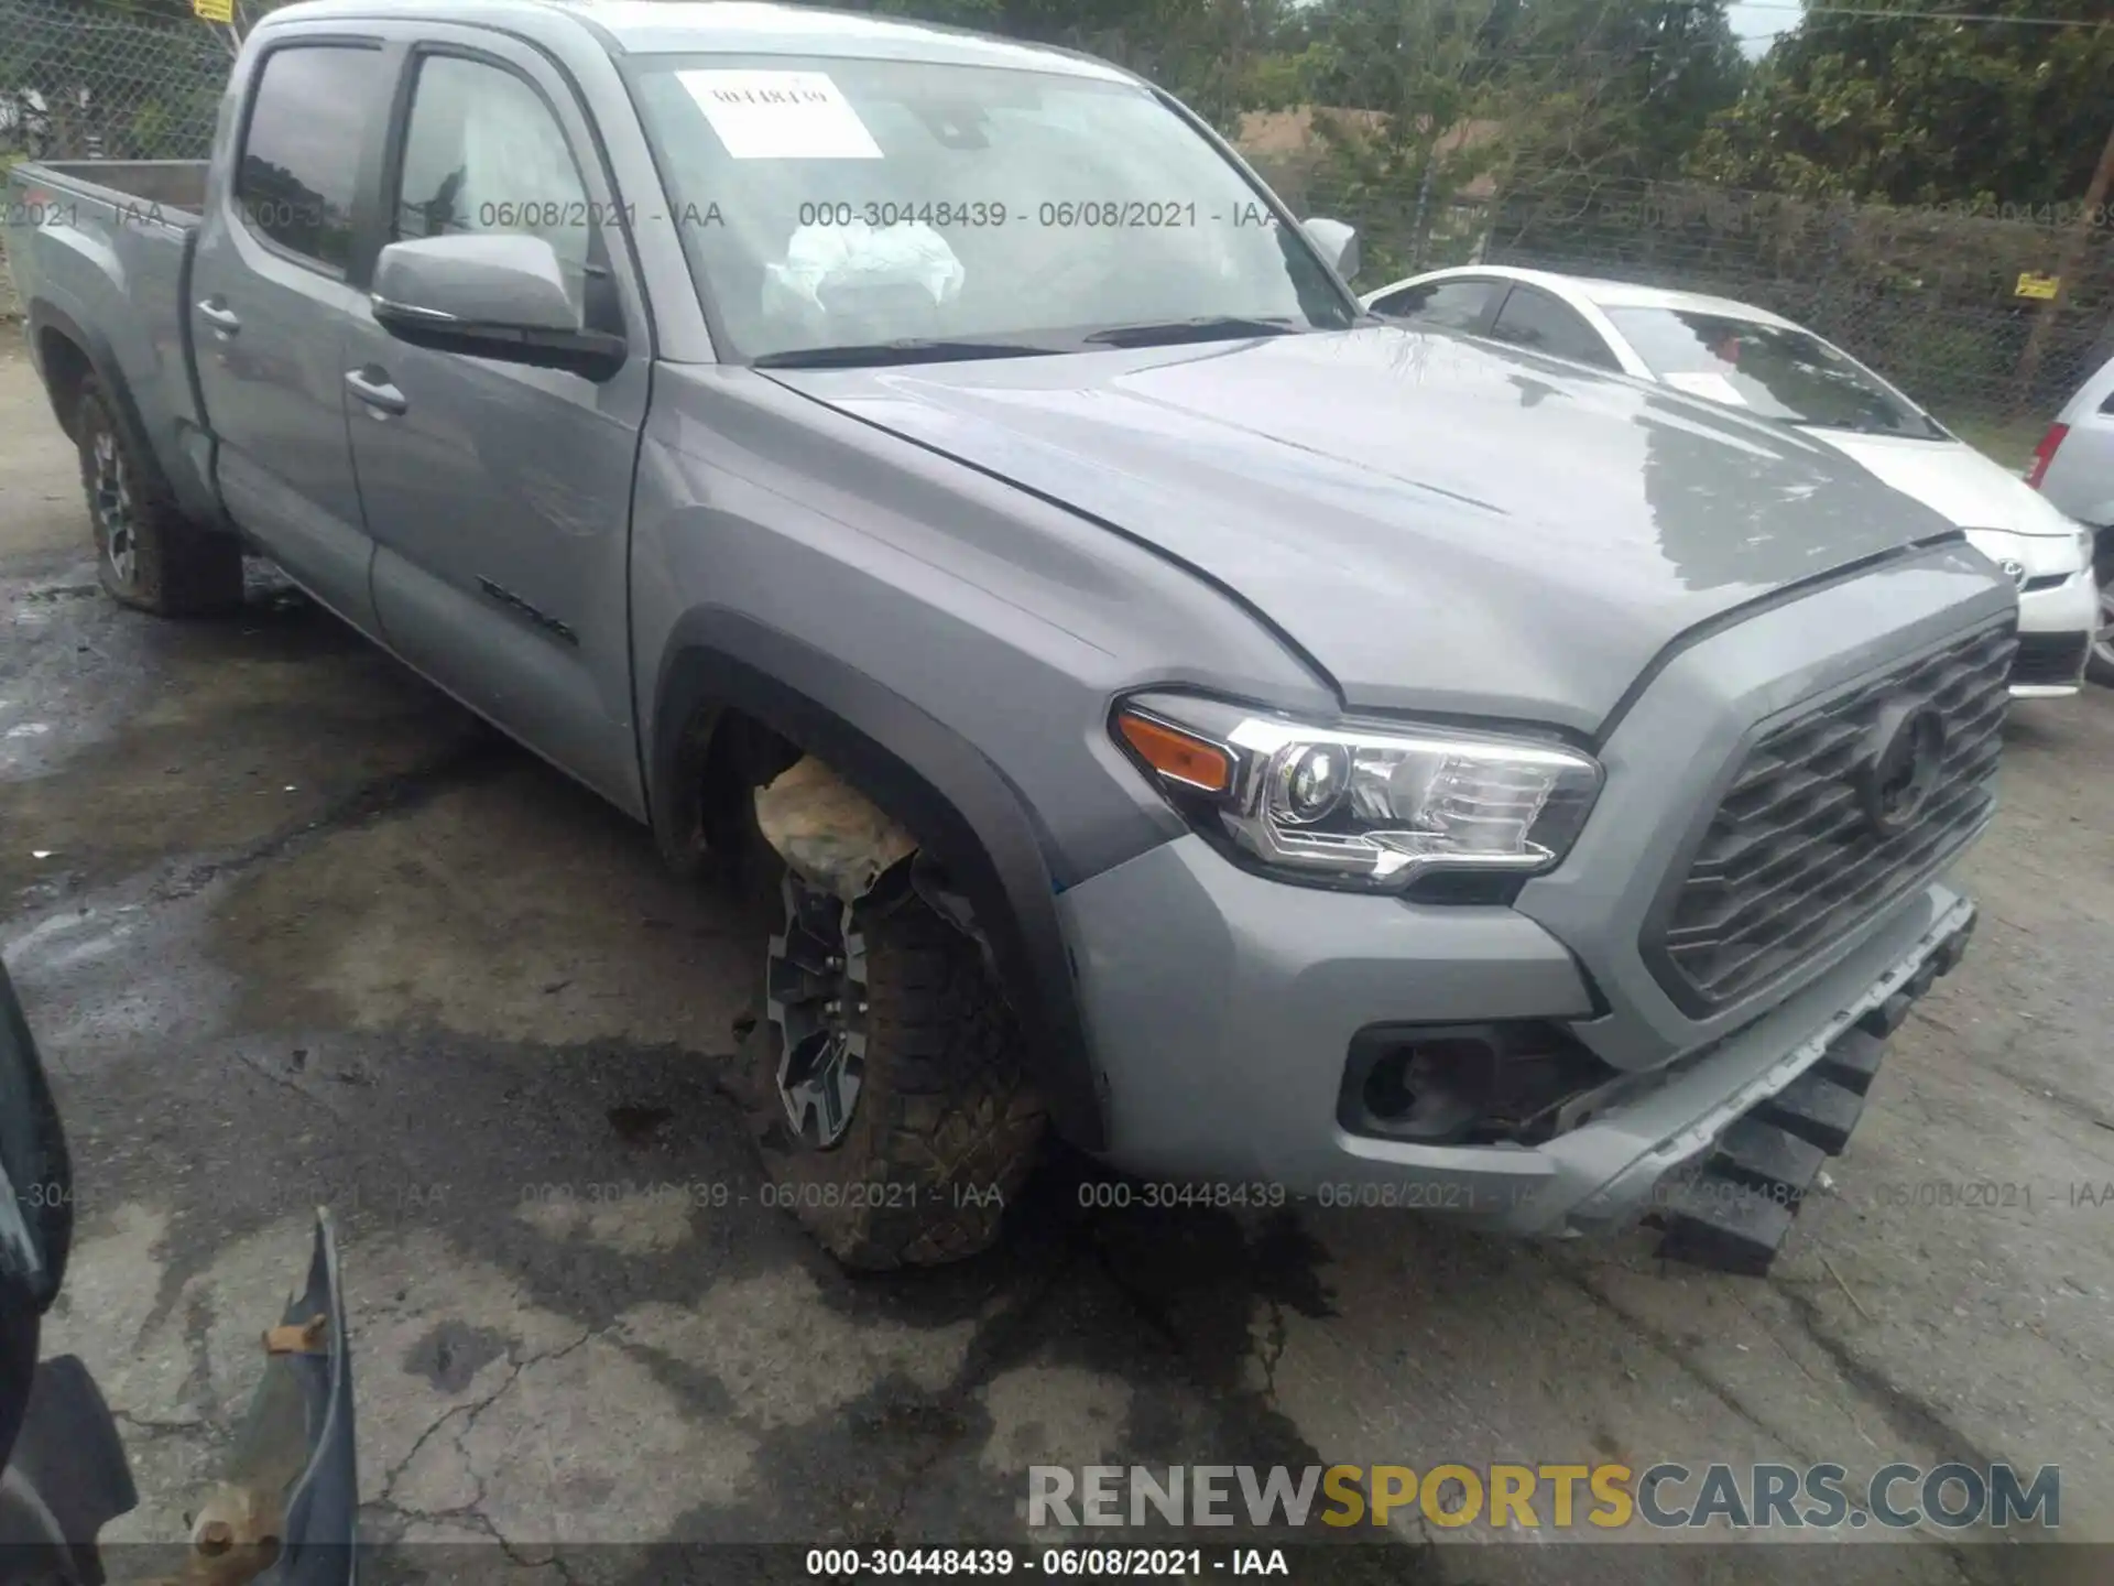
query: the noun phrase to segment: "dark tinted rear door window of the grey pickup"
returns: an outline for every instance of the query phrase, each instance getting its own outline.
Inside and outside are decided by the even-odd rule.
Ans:
[[[288,44],[266,55],[235,169],[235,205],[249,228],[342,275],[353,256],[359,161],[387,106],[378,49]]]

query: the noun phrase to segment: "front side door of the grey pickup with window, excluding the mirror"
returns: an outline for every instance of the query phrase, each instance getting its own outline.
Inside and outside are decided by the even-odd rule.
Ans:
[[[378,241],[535,233],[630,362],[596,383],[431,351],[361,307],[340,374],[376,613],[404,660],[643,814],[628,560],[651,334],[617,195],[537,51],[419,23],[404,70]]]

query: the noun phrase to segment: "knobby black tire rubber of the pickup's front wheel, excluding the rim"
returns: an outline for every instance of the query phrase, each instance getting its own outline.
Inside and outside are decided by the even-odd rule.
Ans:
[[[776,909],[780,922],[784,907]],[[856,914],[867,943],[865,1081],[843,1138],[816,1148],[778,1098],[778,1032],[742,1036],[736,1093],[772,1201],[846,1267],[937,1267],[998,1241],[1040,1150],[1044,1110],[983,952],[907,886]]]

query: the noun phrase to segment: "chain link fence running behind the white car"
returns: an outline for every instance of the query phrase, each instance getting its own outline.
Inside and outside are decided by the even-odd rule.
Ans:
[[[1418,205],[1325,171],[1300,211],[1359,226],[1368,290],[1446,264],[1520,264],[1753,302],[1846,347],[2010,465],[2114,357],[2114,214],[1814,203],[1575,173]],[[2021,277],[2051,277],[2072,254],[2029,355],[2046,305],[2019,296]]]

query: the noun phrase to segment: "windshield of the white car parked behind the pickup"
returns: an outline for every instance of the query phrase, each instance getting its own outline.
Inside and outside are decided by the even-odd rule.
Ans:
[[[1915,404],[1810,330],[1698,309],[1609,309],[1607,317],[1681,391],[1812,429],[1945,440]]]

